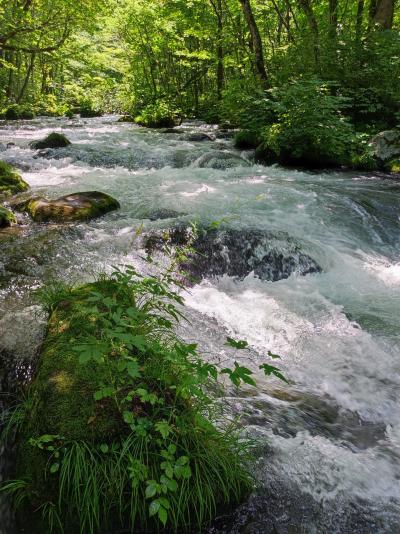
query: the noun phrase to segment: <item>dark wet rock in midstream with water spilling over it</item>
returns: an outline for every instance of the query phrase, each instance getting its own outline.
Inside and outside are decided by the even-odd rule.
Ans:
[[[286,234],[272,234],[252,229],[200,230],[193,236],[191,229],[178,226],[163,234],[152,234],[145,248],[162,249],[163,243],[190,246],[196,254],[182,269],[195,279],[209,276],[244,278],[251,272],[261,280],[278,281],[292,274],[304,276],[319,273],[321,267]]]

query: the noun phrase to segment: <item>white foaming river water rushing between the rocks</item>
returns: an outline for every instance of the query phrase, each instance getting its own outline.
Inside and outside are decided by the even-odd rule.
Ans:
[[[72,145],[28,148],[52,131]],[[26,221],[0,240],[0,352],[16,368],[43,332],[32,290],[111,265],[141,268],[138,229],[223,220],[258,257],[265,240],[254,244],[254,232],[275,240],[283,257],[295,243],[321,272],[294,268],[279,281],[208,276],[185,295],[187,339],[231,363],[226,336],[246,339],[250,366],[278,353],[291,382],[260,375],[257,391],[227,399],[260,440],[260,487],[210,532],[400,532],[400,181],[254,165],[250,152],[195,123],[172,134],[115,117],[41,119],[3,122],[0,136],[14,143],[0,157],[21,169],[33,194],[98,190],[121,203],[85,224]],[[177,213],[151,221],[160,210]],[[4,506],[0,513],[0,532],[13,532]]]

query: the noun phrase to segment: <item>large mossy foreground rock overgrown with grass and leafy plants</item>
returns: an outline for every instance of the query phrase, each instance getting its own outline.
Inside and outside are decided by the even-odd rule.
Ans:
[[[252,372],[219,370],[176,337],[175,284],[127,267],[44,293],[47,336],[9,416],[16,473],[2,486],[37,532],[190,532],[252,489],[251,442],[208,394],[221,373],[238,386]]]

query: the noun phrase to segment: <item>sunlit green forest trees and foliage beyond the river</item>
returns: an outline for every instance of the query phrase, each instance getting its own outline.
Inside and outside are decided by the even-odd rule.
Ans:
[[[119,111],[148,126],[196,116],[253,132],[238,146],[263,141],[267,160],[357,165],[368,156],[356,133],[400,122],[395,7],[395,0],[2,0],[0,105],[8,118]]]

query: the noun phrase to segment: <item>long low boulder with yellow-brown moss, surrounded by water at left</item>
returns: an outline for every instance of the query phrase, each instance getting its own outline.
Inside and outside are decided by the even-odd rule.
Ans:
[[[86,221],[120,208],[119,202],[99,191],[72,193],[56,200],[33,198],[25,204],[25,211],[37,222]]]

